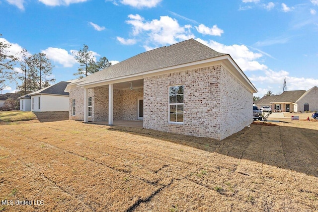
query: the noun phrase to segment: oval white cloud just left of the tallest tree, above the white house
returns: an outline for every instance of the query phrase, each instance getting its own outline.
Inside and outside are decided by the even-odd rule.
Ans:
[[[77,63],[72,54],[69,54],[65,49],[49,47],[42,50],[48,58],[56,63],[63,65],[63,67],[73,67]]]

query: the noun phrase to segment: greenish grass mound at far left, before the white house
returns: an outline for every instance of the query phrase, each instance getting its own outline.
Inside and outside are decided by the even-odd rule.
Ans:
[[[31,111],[0,111],[0,122],[18,122],[36,119]]]

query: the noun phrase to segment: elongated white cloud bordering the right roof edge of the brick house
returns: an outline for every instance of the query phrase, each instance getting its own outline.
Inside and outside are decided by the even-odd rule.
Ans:
[[[263,55],[250,51],[244,45],[234,44],[231,46],[226,46],[213,40],[204,41],[200,38],[197,38],[196,40],[217,52],[230,54],[242,71],[267,70],[267,66],[256,61]]]

